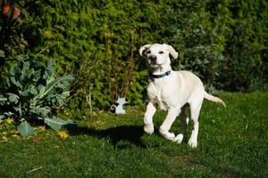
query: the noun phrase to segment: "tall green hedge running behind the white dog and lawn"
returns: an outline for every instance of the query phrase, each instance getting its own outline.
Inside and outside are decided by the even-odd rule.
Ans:
[[[3,1],[1,1],[3,2]],[[124,95],[145,101],[143,44],[166,43],[180,53],[173,69],[194,71],[208,87],[227,91],[267,89],[268,9],[257,0],[13,1],[21,5],[17,38],[38,61],[57,59],[58,74],[72,73],[73,108],[107,109]],[[3,10],[3,8],[2,8]],[[1,13],[6,17],[6,14]],[[2,30],[4,20],[1,20]],[[4,36],[3,33],[1,36]],[[23,43],[25,44],[25,42]],[[21,44],[1,45],[13,59]],[[6,48],[9,44],[9,48]],[[15,50],[16,52],[18,50]],[[2,62],[1,68],[10,62]],[[4,64],[3,64],[4,63]],[[4,76],[4,72],[1,74]],[[87,102],[88,101],[88,102]]]

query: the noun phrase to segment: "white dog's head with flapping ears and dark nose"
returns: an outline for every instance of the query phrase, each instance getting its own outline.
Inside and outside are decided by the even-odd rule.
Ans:
[[[153,68],[169,65],[171,62],[169,54],[174,59],[178,58],[178,53],[168,44],[146,44],[139,49],[139,54],[147,57],[148,64]]]

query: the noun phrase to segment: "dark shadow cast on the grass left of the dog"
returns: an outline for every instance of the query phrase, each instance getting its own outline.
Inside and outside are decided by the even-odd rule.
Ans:
[[[106,130],[96,130],[93,128],[75,125],[68,130],[71,135],[87,134],[97,138],[108,139],[114,147],[119,149],[126,149],[130,147],[130,144],[134,144],[140,148],[147,148],[146,145],[141,142],[141,137],[144,134],[142,126],[122,125],[108,128]]]

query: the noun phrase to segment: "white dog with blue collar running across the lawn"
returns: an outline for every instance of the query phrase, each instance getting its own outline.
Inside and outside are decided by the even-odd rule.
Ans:
[[[147,134],[154,133],[153,116],[158,105],[160,109],[168,111],[163,124],[160,126],[160,134],[167,140],[182,142],[188,125],[184,105],[188,103],[194,126],[188,145],[192,148],[197,147],[198,116],[204,98],[208,101],[219,102],[225,106],[224,102],[206,93],[201,80],[193,73],[172,70],[169,54],[174,59],[177,59],[178,53],[171,45],[146,44],[139,49],[139,53],[147,57],[148,64],[153,69],[147,86],[149,103],[144,117],[145,132]],[[175,118],[179,115],[182,119],[182,125],[180,134],[175,137],[175,134],[170,133],[169,130]]]

